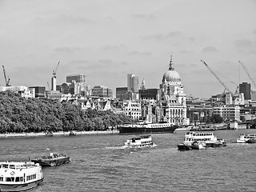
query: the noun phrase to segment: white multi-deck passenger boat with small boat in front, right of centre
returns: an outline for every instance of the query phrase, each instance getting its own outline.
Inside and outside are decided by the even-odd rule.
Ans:
[[[206,147],[226,146],[226,140],[218,139],[213,133],[206,132],[186,132],[183,144],[191,146],[194,142],[205,142]],[[178,145],[178,149],[181,148],[181,144]]]

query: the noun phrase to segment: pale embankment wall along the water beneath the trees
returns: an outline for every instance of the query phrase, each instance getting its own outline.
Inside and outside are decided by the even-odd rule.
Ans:
[[[119,134],[119,130],[101,130],[101,131],[76,131],[72,130],[72,132],[76,135],[83,134]],[[59,131],[54,132],[53,136],[70,136],[70,131]],[[49,137],[44,132],[41,133],[8,133],[8,134],[0,134],[0,138],[30,138],[30,137]]]

